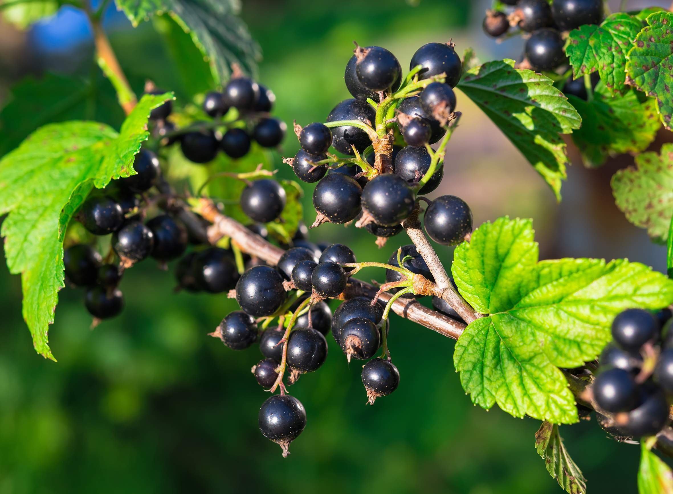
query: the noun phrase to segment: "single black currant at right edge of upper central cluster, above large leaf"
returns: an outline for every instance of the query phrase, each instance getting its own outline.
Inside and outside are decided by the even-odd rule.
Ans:
[[[458,245],[472,232],[472,211],[460,197],[437,197],[425,210],[423,226],[437,244]]]

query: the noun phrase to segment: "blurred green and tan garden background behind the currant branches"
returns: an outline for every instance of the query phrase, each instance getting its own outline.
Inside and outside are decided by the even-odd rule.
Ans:
[[[264,51],[259,80],[277,95],[275,114],[306,125],[324,120],[349,97],[343,67],[353,40],[386,46],[405,68],[419,46],[450,38],[460,51],[474,46],[483,61],[518,57],[520,40],[497,45],[482,34],[488,3],[255,0],[244,2],[242,17]],[[113,17],[112,43],[135,85],[152,79],[184,98],[151,24],[132,30]],[[65,21],[56,24],[65,27]],[[25,73],[89,70],[86,33],[75,48],[51,48],[38,46],[31,32],[0,24],[0,98]],[[614,206],[609,178],[631,157],[585,170],[571,149],[575,164],[557,205],[479,110],[466,98],[459,99],[459,109],[461,127],[433,195],[460,195],[476,224],[505,214],[532,217],[542,258],[629,257],[664,271],[664,248],[650,244]],[[670,133],[653,149],[664,140]],[[283,155],[296,149],[289,133]],[[275,163],[281,176],[291,178],[280,153]],[[303,186],[310,223],[312,185]],[[322,225],[311,237],[347,242],[359,260],[384,260],[409,243],[400,234],[378,250],[365,232],[336,225]],[[437,250],[448,266],[452,250]],[[383,278],[376,270],[361,274]],[[308,425],[291,456],[281,458],[280,448],[257,427],[257,411],[268,396],[250,374],[260,353],[254,347],[235,352],[206,336],[234,303],[225,295],[176,295],[172,287],[171,271],[143,262],[122,281],[122,316],[95,330],[89,329],[81,291],[64,289],[50,328],[59,359],[54,363],[34,353],[21,316],[20,278],[2,263],[0,494],[561,492],[534,448],[540,423],[473,407],[452,366],[454,342],[397,316],[389,345],[400,369],[398,390],[365,407],[360,363],[347,365],[328,337],[328,361],[291,388],[306,407]],[[561,434],[590,492],[636,491],[637,447],[607,439],[593,420],[561,427]]]

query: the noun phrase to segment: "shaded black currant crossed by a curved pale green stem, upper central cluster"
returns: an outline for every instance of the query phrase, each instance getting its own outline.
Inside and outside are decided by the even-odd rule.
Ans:
[[[334,106],[327,116],[328,122],[338,120],[360,120],[367,125],[374,125],[376,121],[376,112],[367,102],[358,100],[343,100]],[[353,147],[359,153],[371,145],[371,140],[365,131],[357,127],[345,125],[343,127],[334,127],[332,129],[332,146],[340,153],[353,155]]]

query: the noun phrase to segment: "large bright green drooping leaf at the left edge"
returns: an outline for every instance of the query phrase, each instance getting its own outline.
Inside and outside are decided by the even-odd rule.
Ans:
[[[98,122],[46,125],[0,160],[7,267],[22,275],[24,320],[44,357],[54,359],[48,325],[64,286],[65,226],[94,186],[133,174],[133,157],[149,135],[149,112],[168,98],[143,97],[120,133]]]

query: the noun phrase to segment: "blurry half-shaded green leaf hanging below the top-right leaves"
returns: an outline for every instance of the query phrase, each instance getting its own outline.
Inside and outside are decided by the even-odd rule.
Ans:
[[[593,100],[568,99],[582,116],[573,141],[588,167],[602,166],[608,156],[644,151],[661,127],[654,100],[635,90],[612,97],[601,81]]]

